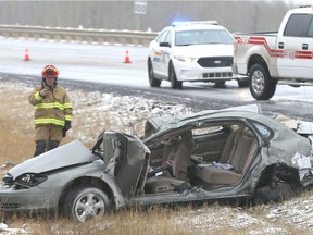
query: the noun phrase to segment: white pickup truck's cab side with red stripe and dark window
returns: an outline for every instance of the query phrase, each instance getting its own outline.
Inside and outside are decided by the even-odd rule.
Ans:
[[[312,14],[290,15],[285,30],[279,32],[276,49],[280,77],[311,78],[313,81],[313,22]]]

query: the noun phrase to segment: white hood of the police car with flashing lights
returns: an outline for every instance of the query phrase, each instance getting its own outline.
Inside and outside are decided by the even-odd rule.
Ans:
[[[190,58],[202,57],[234,57],[233,45],[190,45],[185,47],[173,48],[173,53],[176,55],[184,55]]]

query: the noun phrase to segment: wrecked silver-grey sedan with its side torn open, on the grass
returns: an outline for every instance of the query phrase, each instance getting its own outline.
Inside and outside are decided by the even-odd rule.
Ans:
[[[84,222],[141,205],[284,199],[313,183],[310,136],[287,124],[246,106],[151,118],[141,137],[103,131],[92,149],[74,140],[9,170],[0,211]]]

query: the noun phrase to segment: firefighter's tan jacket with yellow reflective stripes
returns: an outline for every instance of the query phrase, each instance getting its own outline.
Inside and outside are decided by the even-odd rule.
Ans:
[[[35,106],[35,125],[64,126],[65,120],[72,121],[72,104],[66,90],[57,85],[46,97],[41,97],[38,86],[29,96],[29,102]]]

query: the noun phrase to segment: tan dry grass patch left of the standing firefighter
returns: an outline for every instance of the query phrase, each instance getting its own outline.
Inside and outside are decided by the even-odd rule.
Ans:
[[[33,109],[28,104],[27,90],[13,84],[1,87],[0,163],[18,163],[34,153]]]

